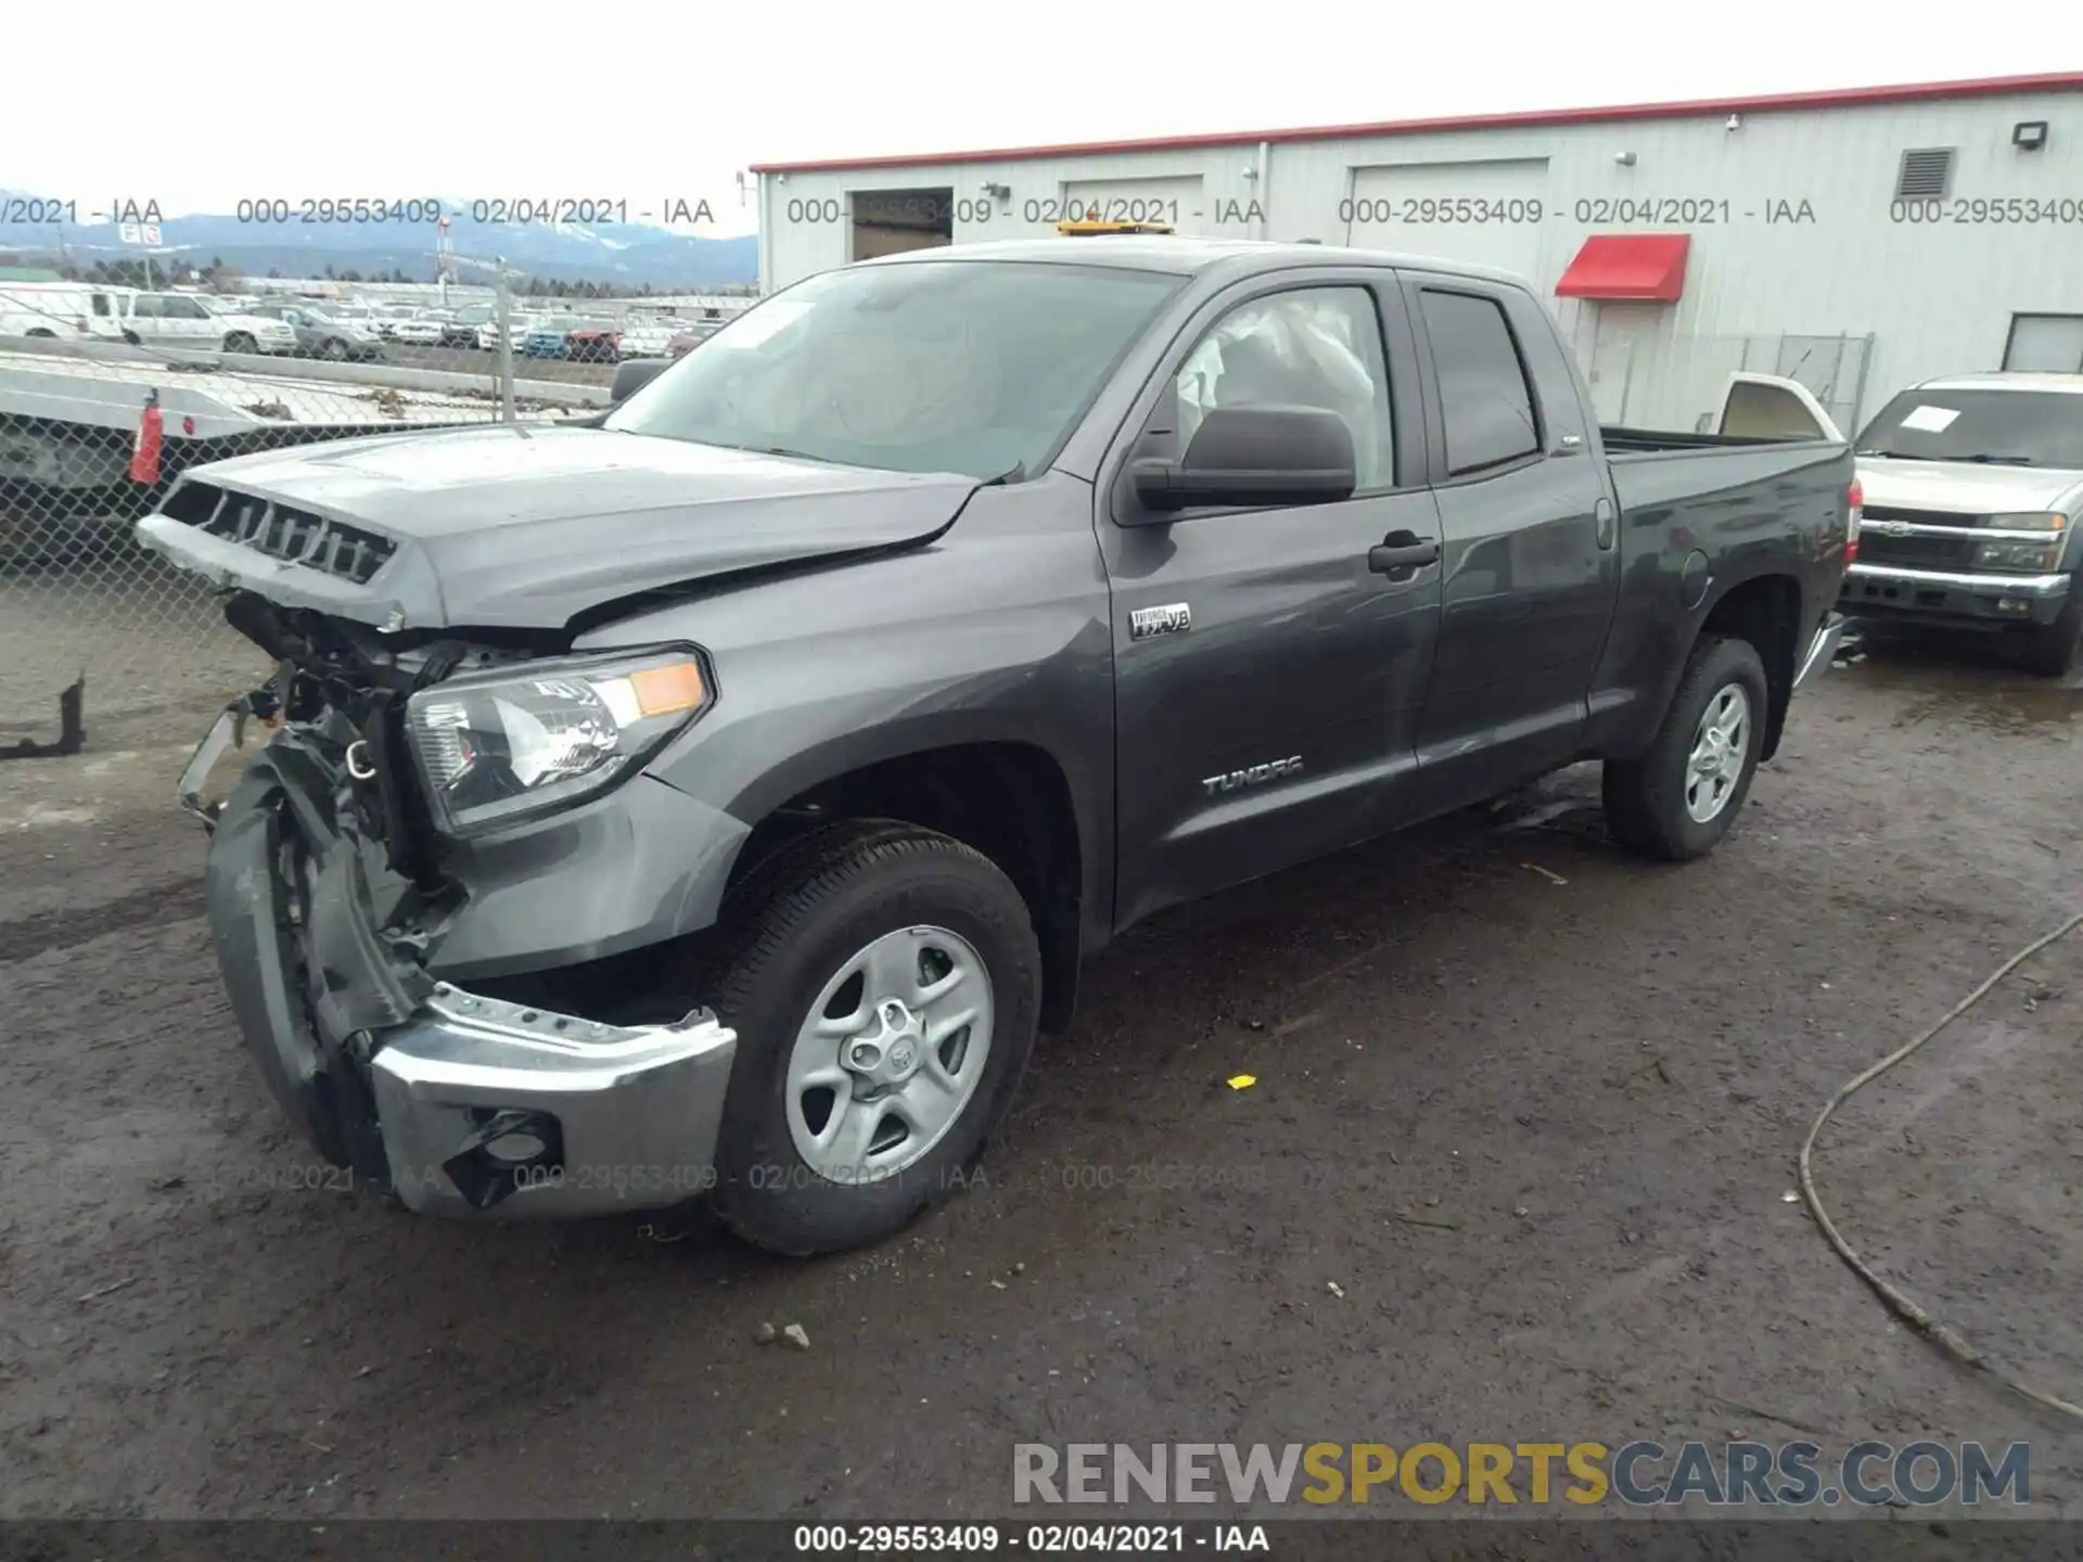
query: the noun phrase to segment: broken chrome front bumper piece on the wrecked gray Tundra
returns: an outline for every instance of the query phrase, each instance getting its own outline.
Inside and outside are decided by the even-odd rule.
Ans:
[[[735,1052],[706,1012],[619,1027],[440,983],[369,1060],[392,1189],[423,1214],[498,1218],[698,1198]]]

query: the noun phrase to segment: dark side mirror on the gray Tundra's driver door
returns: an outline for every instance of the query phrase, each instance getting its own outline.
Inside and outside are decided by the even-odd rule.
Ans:
[[[1198,504],[1333,504],[1358,487],[1346,419],[1323,406],[1219,406],[1194,431],[1183,460],[1131,467],[1144,508]]]

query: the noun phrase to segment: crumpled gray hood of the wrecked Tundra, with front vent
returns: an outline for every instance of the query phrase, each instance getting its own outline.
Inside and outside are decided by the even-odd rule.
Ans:
[[[925,541],[975,489],[946,473],[508,425],[196,467],[137,531],[285,606],[392,629],[560,629],[639,591]]]

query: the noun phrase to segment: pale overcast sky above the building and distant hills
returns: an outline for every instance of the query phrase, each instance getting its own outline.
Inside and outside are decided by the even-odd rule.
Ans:
[[[2056,15],[1483,0],[8,6],[0,187],[167,217],[242,198],[708,200],[752,162],[1718,98],[2083,67]],[[1912,12],[1898,12],[1912,15]],[[1937,12],[1935,12],[1937,15]],[[1971,12],[1943,12],[1964,19]],[[2060,25],[2075,37],[2075,12]],[[537,23],[531,17],[544,17]],[[21,69],[77,60],[79,69]]]

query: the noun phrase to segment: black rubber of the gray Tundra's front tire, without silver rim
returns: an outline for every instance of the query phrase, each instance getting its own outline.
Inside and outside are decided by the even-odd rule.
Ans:
[[[717,1141],[714,1210],[775,1254],[808,1258],[881,1241],[937,1204],[983,1154],[1033,1052],[1042,950],[1027,902],[981,852],[896,821],[837,825],[748,875],[725,906],[731,929],[702,983],[737,1031]],[[808,1006],[844,962],[883,933],[933,925],[964,937],[992,979],[983,1073],[960,1116],[912,1166],[827,1181],[798,1154],[787,1060]]]

